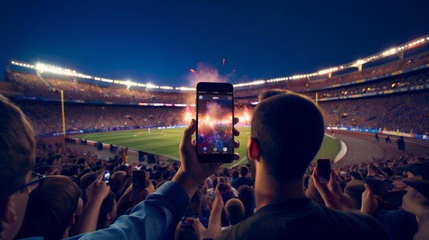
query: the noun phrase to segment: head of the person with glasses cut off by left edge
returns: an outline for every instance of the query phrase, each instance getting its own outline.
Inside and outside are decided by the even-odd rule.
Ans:
[[[34,165],[34,131],[19,107],[0,95],[0,239],[19,231],[27,206]]]

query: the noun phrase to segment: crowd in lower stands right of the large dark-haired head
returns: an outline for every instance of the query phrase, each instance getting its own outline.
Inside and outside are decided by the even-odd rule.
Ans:
[[[359,126],[404,133],[429,133],[429,92],[341,101],[321,101],[327,126]]]

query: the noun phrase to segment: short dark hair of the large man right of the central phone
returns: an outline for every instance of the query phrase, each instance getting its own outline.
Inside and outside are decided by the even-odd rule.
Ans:
[[[269,174],[278,181],[302,178],[323,133],[323,115],[310,98],[286,90],[269,90],[260,96],[251,135]]]

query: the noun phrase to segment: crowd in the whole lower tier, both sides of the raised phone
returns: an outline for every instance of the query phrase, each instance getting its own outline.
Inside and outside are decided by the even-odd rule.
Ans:
[[[400,83],[400,85],[406,83]],[[59,103],[20,102],[19,106],[34,126],[36,133],[62,131]],[[326,126],[359,126],[372,129],[429,133],[428,91],[388,94],[369,98],[319,101]],[[249,125],[254,105],[236,103],[236,116]],[[112,105],[64,105],[66,131],[98,129],[112,131],[126,127],[184,126],[184,107],[125,107]],[[247,109],[247,110],[245,110]],[[244,118],[247,112],[248,119]],[[191,116],[194,114],[192,108]]]

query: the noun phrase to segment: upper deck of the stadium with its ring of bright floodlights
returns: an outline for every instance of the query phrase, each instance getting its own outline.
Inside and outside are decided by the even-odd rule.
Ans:
[[[429,35],[359,59],[356,62],[342,64],[341,66],[318,72],[250,83],[238,83],[234,85],[236,87],[236,98],[241,103],[246,103],[245,98],[252,98],[261,89],[270,88],[310,92],[308,93],[309,95],[314,95],[311,92],[322,91],[320,96],[327,96],[329,92],[323,92],[324,89],[374,81],[404,72],[428,68],[428,42]],[[395,56],[399,57],[399,59]],[[371,66],[371,64],[378,64],[378,66]],[[369,66],[369,68],[363,68],[364,65]],[[182,106],[182,104],[192,104],[194,98],[193,91],[195,89],[193,88],[159,86],[150,83],[143,84],[92,77],[75,70],[45,64],[32,65],[11,61],[6,66],[6,69],[6,80],[16,85],[16,94],[19,98],[43,98],[58,101],[60,99],[60,90],[64,90],[65,101],[75,102],[101,101],[133,105],[138,105],[139,103],[140,105],[163,103],[167,104],[167,106],[170,104]],[[413,83],[410,84],[409,86],[413,87]],[[397,85],[395,88],[397,88]],[[349,91],[344,90],[343,92],[348,93]],[[240,98],[243,98],[243,100],[239,100]]]

